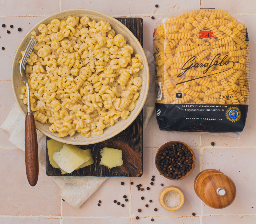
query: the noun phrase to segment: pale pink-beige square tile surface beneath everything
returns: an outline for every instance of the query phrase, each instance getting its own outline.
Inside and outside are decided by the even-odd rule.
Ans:
[[[155,4],[159,7],[156,8]],[[176,13],[190,8],[220,7],[239,13],[247,24],[251,50],[251,99],[248,119],[240,136],[225,137],[220,135],[200,135],[189,133],[160,132],[153,115],[144,132],[144,174],[140,178],[109,178],[80,207],[75,209],[62,201],[58,186],[39,171],[36,187],[29,186],[26,180],[24,153],[8,142],[8,134],[0,129],[0,224],[87,224],[87,223],[195,223],[195,224],[252,224],[256,223],[256,173],[255,173],[255,86],[256,86],[256,10],[255,1],[220,1],[220,0],[2,0],[0,1],[0,125],[4,122],[15,103],[11,87],[11,67],[18,44],[28,30],[45,16],[60,10],[71,8],[89,8],[111,16],[142,17],[144,28],[144,48],[152,52],[152,35],[156,20],[164,13]],[[152,20],[151,16],[155,16]],[[10,28],[13,25],[13,28]],[[17,28],[22,31],[18,32]],[[10,30],[11,34],[7,34]],[[1,48],[5,47],[2,51]],[[184,141],[193,147],[196,154],[194,172],[181,181],[169,181],[158,174],[154,166],[157,149],[170,140]],[[211,146],[211,142],[215,146]],[[232,205],[222,210],[207,207],[196,196],[193,181],[203,169],[220,169],[236,183],[237,196]],[[154,186],[150,185],[151,176],[155,175]],[[120,182],[124,181],[124,186]],[[133,181],[133,185],[130,185]],[[142,184],[150,190],[137,191],[136,185]],[[185,204],[176,212],[167,212],[157,201],[160,184],[177,185],[185,193]],[[128,202],[124,201],[126,195]],[[141,200],[140,197],[145,199]],[[152,203],[149,203],[149,200]],[[98,201],[101,206],[98,207]],[[120,201],[125,206],[113,203]],[[145,207],[148,204],[148,208]],[[137,209],[142,212],[138,213]],[[154,208],[158,211],[155,212]],[[196,216],[193,217],[192,213]],[[136,216],[140,216],[136,220]]]

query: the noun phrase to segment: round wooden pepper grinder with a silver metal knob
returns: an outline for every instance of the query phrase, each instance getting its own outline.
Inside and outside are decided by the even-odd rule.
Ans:
[[[225,208],[236,197],[236,185],[223,172],[207,169],[200,172],[194,181],[196,195],[211,208]]]

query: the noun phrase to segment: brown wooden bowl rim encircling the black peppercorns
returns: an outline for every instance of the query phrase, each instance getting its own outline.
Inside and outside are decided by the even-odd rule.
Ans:
[[[187,172],[185,176],[181,176],[181,178],[178,179],[178,180],[183,180],[184,178],[188,177],[188,176],[192,173],[192,171],[193,171],[194,168],[195,168],[195,164],[196,164],[196,156],[195,156],[194,151],[193,151],[187,144],[185,144],[184,142],[182,142],[182,141],[169,141],[169,142],[166,142],[164,145],[162,145],[162,146],[158,149],[158,151],[157,151],[157,153],[156,153],[155,164],[156,164],[156,160],[157,160],[157,155],[158,155],[158,153],[159,153],[160,151],[163,151],[164,148],[166,148],[166,147],[168,147],[168,146],[171,147],[172,143],[174,143],[174,142],[178,142],[178,144],[181,143],[181,144],[187,146],[188,149],[190,150],[190,152],[192,153],[192,157],[193,157],[193,161],[194,161],[194,163],[193,163],[192,166],[191,166],[191,170],[190,170],[189,172]],[[165,178],[167,178],[167,179],[169,179],[169,180],[176,180],[176,179],[172,179],[171,177],[166,177],[166,176],[162,173],[162,171],[158,169],[158,165],[157,165],[157,164],[156,164],[156,169],[157,169],[157,170],[159,171],[159,173],[160,173],[162,176],[164,176]]]

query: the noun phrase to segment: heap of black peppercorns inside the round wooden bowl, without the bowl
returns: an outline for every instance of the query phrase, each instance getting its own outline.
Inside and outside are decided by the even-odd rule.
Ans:
[[[166,177],[179,180],[192,169],[193,155],[185,145],[174,142],[157,155],[158,169]]]

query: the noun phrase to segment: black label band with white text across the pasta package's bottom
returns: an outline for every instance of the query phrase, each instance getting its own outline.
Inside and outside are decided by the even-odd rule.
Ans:
[[[248,105],[156,103],[160,130],[181,132],[242,132]]]

